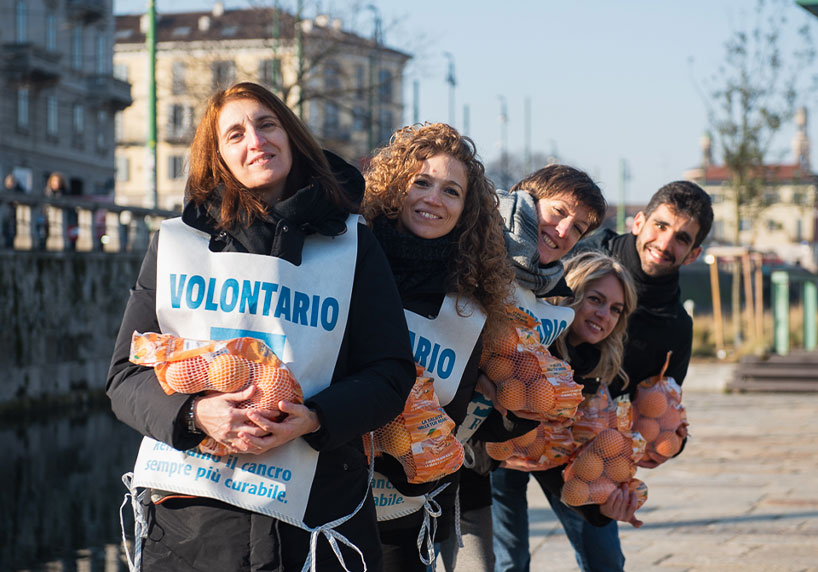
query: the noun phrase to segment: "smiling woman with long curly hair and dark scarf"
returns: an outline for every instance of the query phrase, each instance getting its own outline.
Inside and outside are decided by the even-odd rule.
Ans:
[[[362,212],[392,267],[415,360],[434,377],[441,405],[459,425],[477,382],[483,336],[502,323],[513,281],[494,186],[474,143],[443,123],[396,132],[365,178]],[[435,363],[434,350],[428,350],[434,347],[456,358]],[[378,507],[384,569],[425,570],[435,537],[428,531],[419,558],[425,512],[440,505],[434,540],[441,540],[451,528],[458,474],[410,485],[389,457],[380,458],[376,470],[388,478],[389,491],[397,489],[404,499]],[[374,493],[378,499],[377,488]]]

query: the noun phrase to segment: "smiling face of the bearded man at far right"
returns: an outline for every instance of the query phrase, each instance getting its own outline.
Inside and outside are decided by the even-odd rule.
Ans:
[[[700,246],[693,248],[699,223],[668,205],[659,205],[647,218],[637,213],[632,232],[642,272],[648,276],[670,274],[696,260],[702,251]]]

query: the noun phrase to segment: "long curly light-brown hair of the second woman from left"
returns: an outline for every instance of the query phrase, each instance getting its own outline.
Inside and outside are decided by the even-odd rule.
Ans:
[[[468,178],[463,212],[452,231],[457,242],[448,283],[456,289],[458,313],[462,298],[482,306],[487,315],[486,336],[490,338],[503,323],[514,273],[506,259],[497,194],[471,139],[445,123],[411,125],[396,131],[364,173],[366,193],[361,214],[370,224],[381,215],[397,219],[423,161],[439,154],[463,163]]]

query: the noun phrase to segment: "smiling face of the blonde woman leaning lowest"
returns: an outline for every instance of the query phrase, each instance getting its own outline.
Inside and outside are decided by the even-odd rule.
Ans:
[[[598,344],[613,331],[625,308],[625,291],[613,274],[592,281],[585,296],[574,308],[574,321],[568,329],[567,342]]]

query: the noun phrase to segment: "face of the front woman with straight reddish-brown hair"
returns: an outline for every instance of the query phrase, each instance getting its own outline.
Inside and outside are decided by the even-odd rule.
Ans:
[[[293,158],[278,116],[255,99],[236,99],[219,113],[219,154],[247,189],[273,203],[281,198]]]

